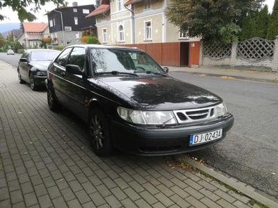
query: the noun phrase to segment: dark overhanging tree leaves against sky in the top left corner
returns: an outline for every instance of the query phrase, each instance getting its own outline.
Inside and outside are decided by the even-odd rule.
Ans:
[[[0,0],[0,10],[10,6],[13,11],[17,12],[18,19],[20,21],[24,21],[27,19],[28,21],[33,21],[37,19],[32,12],[38,12],[40,10],[40,6],[44,6],[47,2],[53,2],[56,6],[65,6],[65,0]],[[28,6],[32,6],[31,12],[28,12],[26,8]],[[5,16],[0,14],[0,20],[3,20]]]

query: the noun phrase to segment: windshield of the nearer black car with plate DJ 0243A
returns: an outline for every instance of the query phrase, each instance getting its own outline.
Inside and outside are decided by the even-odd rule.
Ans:
[[[90,49],[94,73],[161,73],[165,71],[147,53],[126,49]]]

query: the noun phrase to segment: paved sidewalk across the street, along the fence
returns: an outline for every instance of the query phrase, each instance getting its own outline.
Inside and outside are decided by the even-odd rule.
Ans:
[[[186,73],[197,73],[208,76],[224,76],[223,78],[247,78],[252,80],[265,80],[278,83],[278,73],[268,71],[255,71],[245,69],[220,69],[219,67],[168,67],[169,71],[182,71]]]

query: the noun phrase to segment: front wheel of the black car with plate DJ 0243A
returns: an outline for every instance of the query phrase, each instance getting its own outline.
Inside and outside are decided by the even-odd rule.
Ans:
[[[112,155],[113,146],[108,127],[108,119],[99,107],[95,107],[90,112],[89,128],[90,141],[94,153],[101,157]]]

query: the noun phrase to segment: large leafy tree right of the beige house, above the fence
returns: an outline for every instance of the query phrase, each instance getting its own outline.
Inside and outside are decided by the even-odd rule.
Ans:
[[[261,8],[264,0],[173,0],[167,8],[169,21],[190,37],[231,43],[238,39],[247,13]]]

